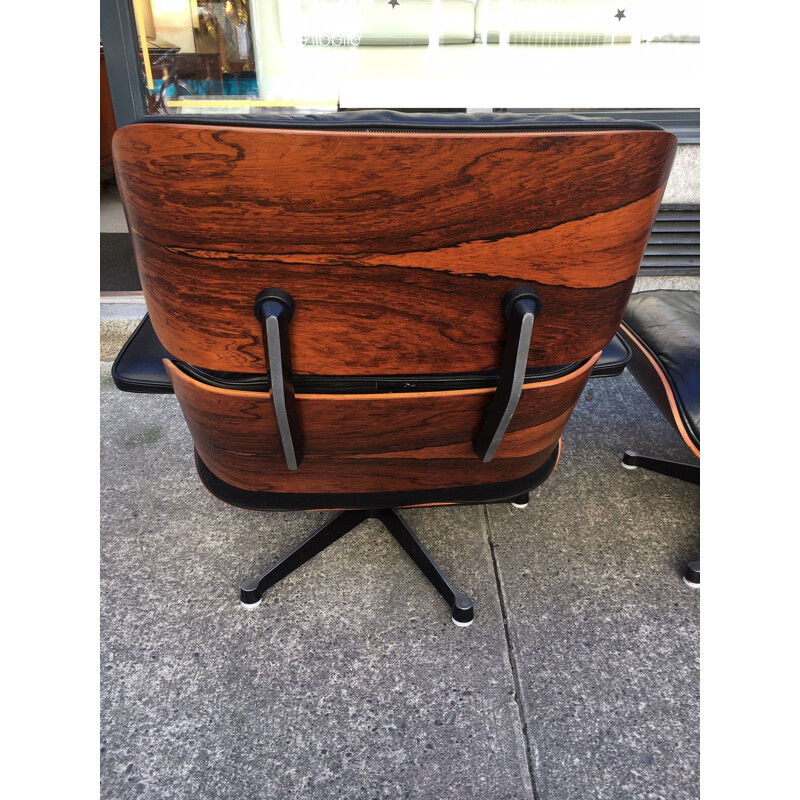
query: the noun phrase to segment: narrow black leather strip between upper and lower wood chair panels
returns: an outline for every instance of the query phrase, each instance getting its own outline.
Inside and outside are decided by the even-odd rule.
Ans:
[[[177,359],[178,369],[200,383],[217,389],[239,392],[268,392],[269,375],[214,372],[186,364]],[[553,380],[581,367],[586,361],[557,367],[536,367],[525,372],[525,383]],[[447,392],[459,389],[490,389],[497,386],[499,372],[476,372],[457,375],[376,375],[349,377],[335,375],[295,375],[297,394],[392,394],[396,392]]]

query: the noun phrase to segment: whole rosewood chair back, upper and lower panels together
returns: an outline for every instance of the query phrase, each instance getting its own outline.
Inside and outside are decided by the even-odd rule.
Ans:
[[[620,324],[672,134],[383,119],[347,130],[319,120],[166,120],[114,138],[147,307],[175,356],[167,372],[200,475],[228,502],[387,508],[527,492],[554,468],[564,426]],[[503,298],[523,285],[541,299],[528,370],[484,463],[473,442],[495,390],[457,381],[488,374],[497,383]],[[202,377],[268,371],[254,314],[268,287],[295,304],[305,451],[296,469],[282,456],[272,391]],[[345,388],[299,388],[320,376]],[[386,390],[387,376],[410,378]],[[426,390],[415,376],[442,385]],[[374,391],[346,389],[373,377]]]

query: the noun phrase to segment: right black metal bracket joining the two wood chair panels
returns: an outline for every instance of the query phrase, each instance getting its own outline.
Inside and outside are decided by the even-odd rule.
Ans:
[[[480,433],[472,445],[475,454],[483,462],[494,458],[522,396],[533,322],[542,311],[542,300],[536,289],[518,286],[503,297],[502,309],[508,320],[508,331],[500,380],[486,410]]]

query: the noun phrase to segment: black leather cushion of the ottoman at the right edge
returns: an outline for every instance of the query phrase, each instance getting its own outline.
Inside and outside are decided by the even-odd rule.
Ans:
[[[689,435],[700,444],[700,292],[631,295],[623,321],[658,361]]]

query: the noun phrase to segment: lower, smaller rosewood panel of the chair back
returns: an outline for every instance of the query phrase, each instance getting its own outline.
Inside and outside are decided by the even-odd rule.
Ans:
[[[491,389],[298,395],[305,459],[289,471],[269,394],[198,383],[165,361],[203,462],[251,491],[391,492],[514,480],[544,464],[599,353],[579,370],[525,386],[493,461],[472,450]]]

